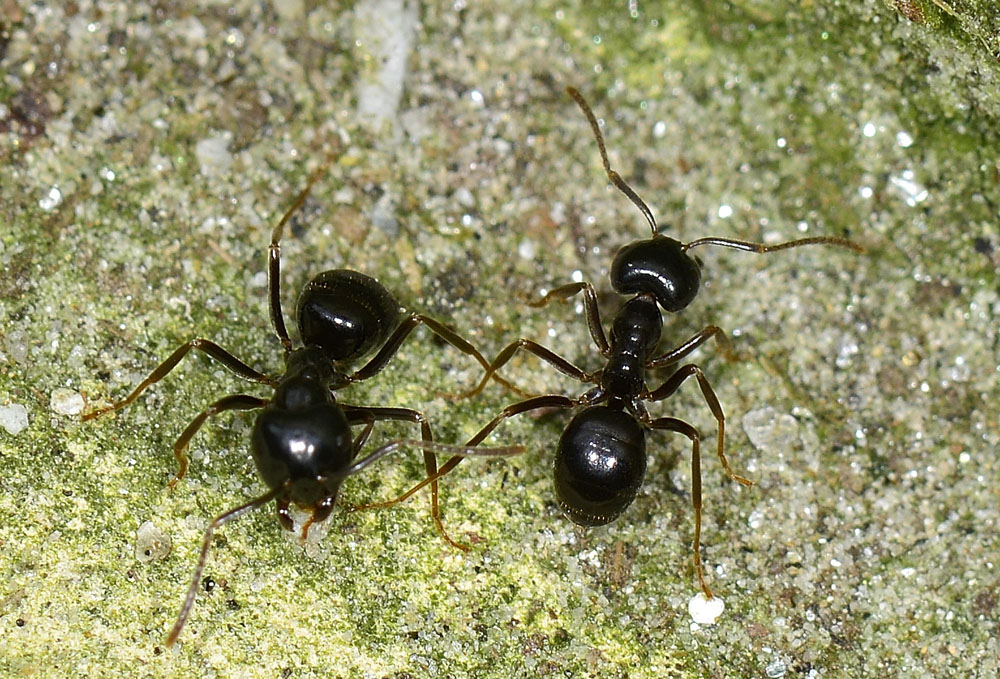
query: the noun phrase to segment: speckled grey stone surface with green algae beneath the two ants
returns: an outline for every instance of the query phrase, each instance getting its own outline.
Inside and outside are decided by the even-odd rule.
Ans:
[[[595,9],[595,5],[600,8]],[[417,5],[0,0],[0,675],[4,677],[994,677],[1000,671],[1000,18],[993,0]],[[493,355],[518,336],[599,367],[581,310],[523,298],[593,281],[648,233],[840,235],[865,256],[703,249],[664,345],[694,357],[757,485],[704,460],[699,626],[686,440],[651,437],[613,525],[559,515],[564,414],[490,439],[512,460],[337,512],[300,545],[259,511],[221,531],[180,643],[164,637],[210,517],[261,492],[249,415],[171,445],[239,383],[209,337],[281,370],[269,229],[333,152],[284,242],[287,308],[325,268],[377,276]],[[533,359],[526,389],[581,387]],[[420,407],[461,441],[515,396],[424,334],[352,403]],[[663,376],[654,376],[662,379]],[[694,384],[653,406],[712,441]],[[377,439],[415,435],[380,428]],[[419,452],[348,504],[421,478]]]

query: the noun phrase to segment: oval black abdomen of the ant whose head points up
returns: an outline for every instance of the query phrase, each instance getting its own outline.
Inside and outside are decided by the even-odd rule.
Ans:
[[[624,512],[646,475],[646,432],[629,413],[591,406],[570,420],[555,459],[559,506],[573,523],[602,526]]]

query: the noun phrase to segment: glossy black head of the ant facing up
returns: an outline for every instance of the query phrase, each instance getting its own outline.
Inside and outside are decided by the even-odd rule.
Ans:
[[[671,313],[690,304],[701,284],[701,269],[684,244],[660,235],[618,250],[609,275],[619,295],[648,293]]]

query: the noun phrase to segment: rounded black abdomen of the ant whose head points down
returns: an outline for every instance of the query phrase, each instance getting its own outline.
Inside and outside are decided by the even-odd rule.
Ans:
[[[399,325],[396,298],[357,271],[333,269],[310,280],[296,305],[299,334],[330,360],[349,362],[385,344]]]

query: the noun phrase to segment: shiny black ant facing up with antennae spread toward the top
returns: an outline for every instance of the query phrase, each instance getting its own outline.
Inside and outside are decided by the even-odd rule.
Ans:
[[[559,372],[592,388],[570,398],[558,394],[534,396],[511,404],[473,436],[466,445],[481,443],[504,420],[515,415],[541,409],[569,409],[584,406],[566,425],[559,439],[554,461],[556,494],[559,506],[574,522],[583,526],[610,523],[635,499],[646,473],[646,429],[672,431],[691,440],[691,504],[694,507],[694,565],[702,591],[712,598],[705,582],[701,561],[701,435],[692,425],[674,417],[653,418],[645,403],[662,401],[674,394],[689,378],[698,380],[702,396],[718,422],[716,453],[722,467],[732,480],[744,486],[753,482],[737,475],[725,455],[726,417],[715,391],[704,373],[695,364],[682,365],[655,389],[646,386],[645,372],[674,366],[710,338],[714,337],[724,353],[735,359],[736,353],[725,333],[715,325],[707,325],[690,339],[662,354],[656,353],[663,328],[664,311],[676,313],[694,300],[701,283],[698,260],[688,251],[702,245],[767,253],[803,245],[832,245],[863,253],[864,249],[847,239],[813,237],[765,245],[729,238],[699,238],[682,243],[661,234],[652,211],[617,172],[611,169],[597,119],[590,106],[576,89],[567,92],[590,122],[604,171],[611,183],[624,193],[646,217],[652,228],[652,238],[638,240],[622,247],[611,263],[611,287],[620,295],[632,295],[615,314],[611,323],[610,341],[604,332],[597,306],[597,293],[590,283],[570,283],[557,287],[531,306],[541,307],[558,299],[565,300],[582,292],[590,336],[598,351],[607,359],[603,368],[586,372],[570,361],[532,340],[521,338],[505,347],[490,364],[482,381],[461,397],[482,391],[490,378],[518,350],[527,351],[551,364]],[[408,498],[411,494],[447,474],[462,461],[462,456],[449,459],[437,472],[409,491],[389,502],[368,507],[384,507]]]

